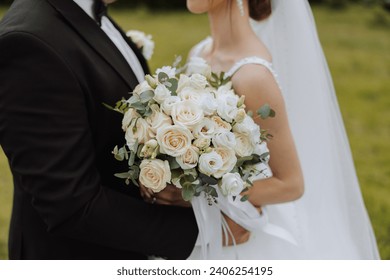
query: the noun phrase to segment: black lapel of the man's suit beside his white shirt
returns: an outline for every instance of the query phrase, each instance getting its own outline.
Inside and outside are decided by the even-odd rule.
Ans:
[[[137,78],[126,59],[106,33],[76,3],[72,0],[46,1],[63,15],[75,31],[112,66],[131,89],[137,86]]]

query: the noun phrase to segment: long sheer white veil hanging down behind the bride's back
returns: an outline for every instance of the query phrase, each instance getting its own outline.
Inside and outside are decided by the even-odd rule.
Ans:
[[[310,6],[307,0],[272,0],[272,10],[267,20],[252,26],[270,50],[279,75],[305,194],[297,202],[270,206],[270,219],[272,211],[281,221],[294,219],[282,225],[297,235],[305,252],[302,258],[377,259],[376,240]]]

